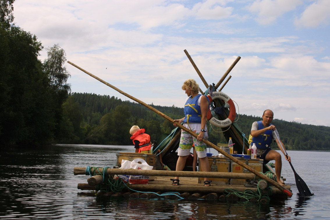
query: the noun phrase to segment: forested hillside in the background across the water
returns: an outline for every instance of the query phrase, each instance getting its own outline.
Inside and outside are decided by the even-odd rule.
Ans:
[[[173,119],[183,117],[183,108],[151,106]],[[156,141],[161,134],[170,133],[174,129],[169,121],[146,107],[130,101],[121,101],[114,96],[72,93],[64,104],[64,110],[67,132],[58,140],[62,143],[131,144],[129,129],[132,125],[145,128],[146,133],[151,136],[151,141]],[[258,120],[261,120],[261,116],[243,114],[239,116],[237,123],[248,137],[252,123]],[[329,127],[278,119],[274,119],[272,123],[276,125],[287,149],[330,149]],[[213,129],[220,131],[214,126]],[[213,129],[209,129],[210,141],[225,143],[222,133]],[[272,146],[276,148],[276,144]]]

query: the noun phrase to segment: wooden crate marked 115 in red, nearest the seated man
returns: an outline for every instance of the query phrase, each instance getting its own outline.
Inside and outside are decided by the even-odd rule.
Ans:
[[[239,160],[247,164],[254,170],[258,172],[263,172],[262,169],[263,160],[259,160],[259,159],[253,160],[253,159],[243,159],[243,158],[242,159],[240,158]],[[245,169],[244,167],[238,165],[233,161],[230,162],[230,171],[233,173],[251,173],[250,171],[248,171],[247,169]],[[230,184],[243,185],[245,181],[246,181],[245,179],[230,179]]]

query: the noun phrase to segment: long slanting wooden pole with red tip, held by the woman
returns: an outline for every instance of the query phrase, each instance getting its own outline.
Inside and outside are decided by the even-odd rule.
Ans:
[[[119,93],[123,94],[124,96],[126,96],[126,97],[128,97],[128,98],[130,98],[130,99],[132,99],[132,100],[134,100],[134,101],[136,101],[136,102],[138,102],[138,103],[140,103],[141,105],[145,106],[146,108],[148,108],[148,109],[152,110],[153,112],[159,114],[160,116],[162,116],[162,117],[165,118],[166,120],[170,121],[171,123],[175,123],[175,124],[177,124],[177,126],[178,126],[179,128],[181,128],[182,130],[188,132],[189,134],[191,134],[192,136],[194,136],[195,138],[197,138],[197,134],[196,134],[196,133],[190,131],[189,129],[187,129],[187,128],[185,128],[185,127],[183,127],[181,124],[179,124],[178,122],[175,122],[172,118],[170,118],[169,116],[163,114],[162,112],[158,111],[157,109],[152,108],[151,106],[149,106],[149,105],[147,105],[146,103],[140,101],[139,99],[134,98],[133,96],[131,96],[131,95],[129,95],[129,94],[127,94],[127,93],[121,91],[120,89],[118,89],[118,88],[116,88],[115,86],[109,84],[108,82],[104,81],[103,79],[100,79],[100,78],[94,76],[93,74],[91,74],[91,73],[87,72],[86,70],[80,68],[80,67],[77,66],[76,64],[71,63],[70,61],[68,61],[68,63],[71,64],[72,66],[74,66],[74,67],[80,69],[82,72],[88,74],[89,76],[93,77],[94,79],[97,79],[97,80],[99,80],[100,82],[106,84],[107,86],[109,86],[109,87],[115,89],[116,91],[118,91]],[[232,155],[230,155],[230,154],[227,153],[226,151],[222,150],[220,147],[216,146],[215,144],[211,143],[210,141],[207,141],[207,140],[205,140],[205,139],[202,139],[202,141],[203,141],[204,143],[206,143],[207,145],[213,147],[215,150],[219,151],[219,152],[222,153],[223,155],[225,155],[225,156],[226,156],[227,158],[229,158],[230,160],[232,160],[232,161],[234,161],[235,163],[239,164],[240,166],[244,167],[245,169],[247,169],[248,171],[250,171],[250,172],[253,173],[254,175],[260,177],[261,179],[264,179],[264,180],[268,181],[270,184],[272,184],[273,186],[275,186],[276,188],[278,188],[279,190],[281,190],[281,191],[282,191],[285,195],[287,195],[288,197],[291,197],[291,196],[292,196],[292,192],[291,192],[290,190],[286,189],[285,187],[283,187],[282,185],[280,185],[278,182],[272,180],[271,178],[268,178],[267,176],[265,176],[265,175],[259,173],[259,172],[256,171],[256,170],[252,169],[252,168],[249,167],[247,164],[245,164],[245,163],[239,161],[238,159],[236,159],[235,157],[233,157]]]

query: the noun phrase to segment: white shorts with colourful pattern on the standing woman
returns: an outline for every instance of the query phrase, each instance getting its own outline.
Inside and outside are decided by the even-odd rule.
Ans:
[[[199,133],[196,133],[196,134],[198,135]],[[206,138],[206,137],[207,137],[207,134],[205,132],[203,138]],[[195,145],[194,147],[195,147],[197,156],[199,158],[206,157],[206,152],[207,152],[206,143],[204,143],[203,141],[198,141],[197,138],[193,137],[192,135],[190,135],[188,132],[186,132],[184,130],[181,131],[178,155],[179,156],[189,155],[192,144]]]

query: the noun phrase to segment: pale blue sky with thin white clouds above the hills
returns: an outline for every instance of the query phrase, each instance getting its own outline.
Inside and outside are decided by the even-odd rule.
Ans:
[[[16,0],[14,22],[123,92],[183,107],[186,79],[222,89],[237,113],[330,126],[329,0]],[[130,100],[66,63],[72,92]],[[228,78],[227,77],[227,78]],[[220,86],[221,87],[221,86]],[[131,100],[130,100],[131,101]],[[238,121],[239,124],[239,121]]]

